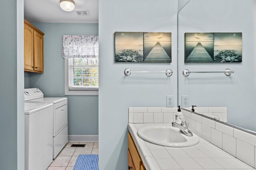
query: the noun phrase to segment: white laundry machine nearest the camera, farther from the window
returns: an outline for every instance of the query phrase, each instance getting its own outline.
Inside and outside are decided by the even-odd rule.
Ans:
[[[52,162],[53,104],[24,103],[25,170],[46,170]]]

